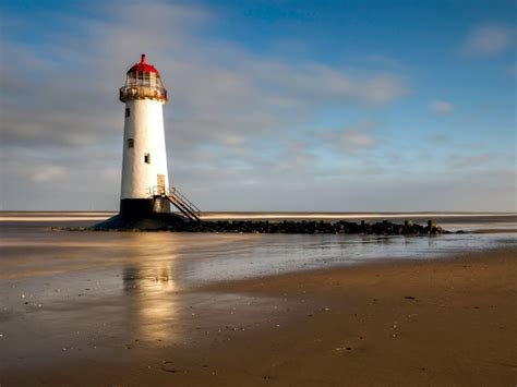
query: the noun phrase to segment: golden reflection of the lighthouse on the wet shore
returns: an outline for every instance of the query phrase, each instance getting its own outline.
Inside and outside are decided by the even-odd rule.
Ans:
[[[141,341],[167,343],[180,338],[188,310],[179,294],[178,241],[163,233],[137,232],[124,235],[122,286],[127,302],[121,303],[124,328]],[[189,313],[190,314],[190,313]]]

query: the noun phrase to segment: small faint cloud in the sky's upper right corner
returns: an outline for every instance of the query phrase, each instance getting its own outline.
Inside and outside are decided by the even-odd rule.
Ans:
[[[507,49],[515,36],[513,27],[504,24],[483,24],[470,32],[466,49],[477,56],[493,56]]]

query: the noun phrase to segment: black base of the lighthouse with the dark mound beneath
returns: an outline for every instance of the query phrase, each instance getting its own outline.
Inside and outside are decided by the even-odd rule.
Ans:
[[[166,230],[190,221],[185,217],[170,213],[169,203],[157,199],[121,199],[120,213],[92,230]]]

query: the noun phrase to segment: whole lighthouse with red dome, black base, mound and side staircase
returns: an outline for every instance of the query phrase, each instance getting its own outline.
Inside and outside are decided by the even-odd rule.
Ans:
[[[169,185],[163,107],[167,90],[145,55],[125,73],[120,211],[95,229],[154,229],[199,221],[201,211]],[[172,204],[180,214],[170,211]]]

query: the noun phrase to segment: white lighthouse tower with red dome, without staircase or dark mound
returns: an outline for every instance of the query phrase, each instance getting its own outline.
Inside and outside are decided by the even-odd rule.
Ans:
[[[167,213],[169,202],[153,195],[165,193],[169,186],[161,110],[167,90],[145,55],[128,71],[119,98],[125,102],[120,213]]]

